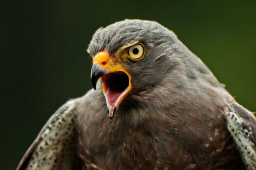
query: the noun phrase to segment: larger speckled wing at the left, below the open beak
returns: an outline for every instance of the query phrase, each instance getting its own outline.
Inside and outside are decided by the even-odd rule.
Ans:
[[[18,169],[81,169],[74,137],[75,100],[56,111],[20,161]]]

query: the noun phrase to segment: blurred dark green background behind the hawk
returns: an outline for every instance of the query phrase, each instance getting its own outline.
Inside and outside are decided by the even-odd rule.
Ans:
[[[256,1],[9,1],[2,6],[1,167],[15,169],[51,114],[92,88],[95,30],[156,20],[256,111]]]

